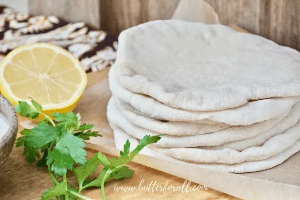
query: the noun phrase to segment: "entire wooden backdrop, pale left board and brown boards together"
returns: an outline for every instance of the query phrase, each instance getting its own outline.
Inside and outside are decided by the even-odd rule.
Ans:
[[[111,33],[143,22],[169,19],[179,0],[28,0],[34,15],[52,14],[69,21],[84,20]],[[198,0],[194,0],[198,1]],[[299,0],[205,0],[222,24],[248,31],[300,50]]]

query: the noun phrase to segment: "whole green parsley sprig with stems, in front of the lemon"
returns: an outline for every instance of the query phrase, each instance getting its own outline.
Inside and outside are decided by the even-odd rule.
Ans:
[[[125,166],[149,144],[156,143],[160,136],[145,136],[140,144],[130,152],[130,142],[127,140],[124,151],[120,157],[108,159],[101,152],[95,153],[87,159],[84,140],[90,137],[101,136],[97,131],[92,131],[92,124],[81,124],[80,114],[74,112],[53,113],[54,120],[48,114],[42,112],[43,107],[35,100],[31,105],[25,101],[19,101],[16,106],[21,116],[36,119],[43,118],[32,129],[23,129],[21,137],[17,139],[16,147],[24,146],[23,155],[29,163],[36,162],[36,166],[47,165],[53,186],[43,192],[41,200],[93,200],[80,192],[87,187],[101,187],[103,199],[106,199],[104,184],[111,178],[118,180],[132,177],[134,170]],[[40,158],[40,152],[43,154]],[[77,167],[74,167],[76,164]],[[99,165],[103,169],[97,178],[90,180],[88,177],[96,171]],[[78,181],[78,188],[67,181],[68,170],[73,171]]]

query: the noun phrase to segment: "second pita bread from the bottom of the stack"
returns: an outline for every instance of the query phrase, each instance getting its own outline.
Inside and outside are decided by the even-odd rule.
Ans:
[[[234,149],[204,150],[199,148],[159,148],[152,146],[155,151],[178,160],[195,163],[235,164],[246,161],[265,160],[283,152],[300,139],[300,122],[292,128],[269,139],[259,147],[251,147],[242,152]]]

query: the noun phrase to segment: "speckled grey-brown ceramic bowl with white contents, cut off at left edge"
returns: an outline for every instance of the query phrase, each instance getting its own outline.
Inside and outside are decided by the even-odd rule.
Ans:
[[[0,167],[5,163],[9,157],[18,132],[18,115],[14,105],[4,96],[0,94],[0,113],[3,114],[9,121],[9,129],[0,138]]]

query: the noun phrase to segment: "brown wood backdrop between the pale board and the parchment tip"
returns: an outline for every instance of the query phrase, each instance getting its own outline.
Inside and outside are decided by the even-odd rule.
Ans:
[[[151,20],[170,19],[179,0],[101,0],[101,29],[111,33]]]

